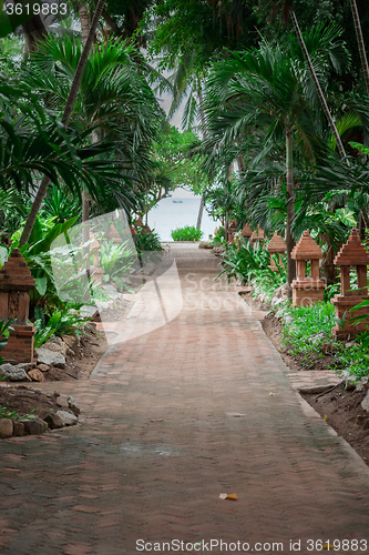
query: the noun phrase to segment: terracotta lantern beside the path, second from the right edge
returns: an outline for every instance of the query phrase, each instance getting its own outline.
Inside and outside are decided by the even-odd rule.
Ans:
[[[319,260],[322,259],[320,246],[304,231],[291,252],[296,260],[296,280],[293,281],[293,305],[308,306],[322,301],[325,283],[319,279]],[[310,261],[310,275],[306,275],[306,262]]]

